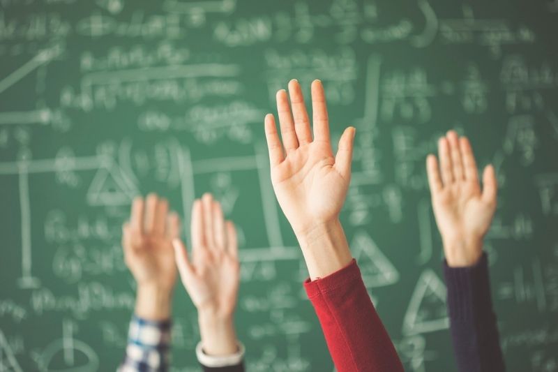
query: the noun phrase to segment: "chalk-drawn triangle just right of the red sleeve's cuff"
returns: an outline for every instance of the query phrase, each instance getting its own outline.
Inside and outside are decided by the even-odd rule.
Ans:
[[[351,241],[351,251],[359,262],[366,287],[383,287],[399,281],[399,271],[365,232],[356,233]]]

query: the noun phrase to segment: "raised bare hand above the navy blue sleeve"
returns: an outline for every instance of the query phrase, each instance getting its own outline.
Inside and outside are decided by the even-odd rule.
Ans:
[[[495,170],[492,165],[484,169],[481,191],[475,158],[466,137],[449,131],[440,138],[438,151],[440,166],[436,157],[429,155],[426,168],[446,261],[451,267],[474,265],[481,258],[483,237],[496,210]]]

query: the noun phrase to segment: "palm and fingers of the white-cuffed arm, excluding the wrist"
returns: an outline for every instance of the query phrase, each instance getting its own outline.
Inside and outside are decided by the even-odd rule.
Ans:
[[[200,310],[231,315],[239,290],[239,258],[236,229],[225,221],[220,203],[205,194],[192,209],[192,259],[175,239],[176,265],[192,302]]]

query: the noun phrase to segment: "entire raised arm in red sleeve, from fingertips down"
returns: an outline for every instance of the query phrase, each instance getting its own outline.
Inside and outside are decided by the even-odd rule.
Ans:
[[[289,82],[288,95],[277,93],[282,142],[273,115],[265,119],[271,182],[308,267],[306,291],[339,372],[403,371],[339,220],[351,179],[355,129],[345,129],[334,156],[322,82],[312,82],[311,90],[313,133],[296,80]]]

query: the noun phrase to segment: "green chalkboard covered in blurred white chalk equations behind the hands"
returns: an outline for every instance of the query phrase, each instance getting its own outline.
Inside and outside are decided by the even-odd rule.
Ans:
[[[557,35],[555,0],[0,0],[0,369],[114,370],[130,198],[187,227],[210,191],[240,229],[248,370],[333,371],[263,135],[276,90],[319,78],[333,137],[357,128],[342,222],[407,371],[456,371],[424,169],[449,128],[497,168],[508,369],[558,371]],[[198,340],[177,285],[173,371]]]

